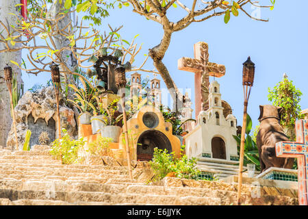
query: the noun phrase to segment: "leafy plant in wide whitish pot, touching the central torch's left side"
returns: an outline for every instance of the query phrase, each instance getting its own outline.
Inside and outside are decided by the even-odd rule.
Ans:
[[[119,99],[115,99],[108,105],[107,108],[101,107],[104,111],[104,118],[105,127],[101,129],[101,136],[105,138],[112,138],[112,142],[118,142],[121,133],[121,127],[118,126],[120,120],[123,119],[123,114],[118,112],[118,107],[116,103],[118,103]]]

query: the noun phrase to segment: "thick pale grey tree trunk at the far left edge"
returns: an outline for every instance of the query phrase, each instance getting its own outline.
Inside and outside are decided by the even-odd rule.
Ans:
[[[20,14],[20,12],[18,12],[17,8],[15,7],[15,5],[18,3],[21,3],[20,0],[1,1],[0,20],[6,26],[16,25],[16,17],[10,13]],[[5,30],[3,31],[1,28],[0,31],[2,31],[4,38],[8,37]],[[10,31],[12,31],[12,28]],[[13,48],[12,45],[10,46]],[[15,44],[15,47],[18,46],[18,44]],[[4,45],[2,43],[0,43],[0,49],[4,49]],[[2,146],[6,146],[6,140],[8,139],[8,133],[12,124],[10,113],[10,94],[8,92],[5,80],[3,79],[3,68],[5,64],[12,66],[13,73],[16,73],[18,86],[21,86],[21,83],[23,83],[21,79],[21,69],[18,68],[18,66],[15,64],[12,64],[10,60],[21,64],[21,51],[0,53],[0,145]]]

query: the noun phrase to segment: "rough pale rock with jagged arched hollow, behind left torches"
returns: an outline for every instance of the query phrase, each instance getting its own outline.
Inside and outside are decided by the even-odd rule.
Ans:
[[[53,86],[42,88],[37,92],[25,92],[25,94],[18,101],[15,107],[16,114],[16,129],[19,149],[23,149],[25,142],[25,134],[28,129],[27,118],[29,114],[34,117],[34,122],[42,118],[47,124],[53,118],[57,124],[57,103],[55,101],[55,90]],[[77,123],[73,110],[64,104],[63,98],[60,95],[60,118],[61,128],[66,129],[68,134],[73,138],[77,137]],[[55,125],[55,133],[57,133],[57,125]],[[15,149],[14,127],[11,126],[8,136],[7,146],[8,149]]]

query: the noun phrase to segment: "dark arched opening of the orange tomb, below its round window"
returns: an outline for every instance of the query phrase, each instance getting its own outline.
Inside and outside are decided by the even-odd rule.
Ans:
[[[167,149],[168,153],[172,152],[172,146],[167,136],[161,131],[147,130],[144,131],[137,142],[137,160],[150,161],[153,158],[155,147]]]

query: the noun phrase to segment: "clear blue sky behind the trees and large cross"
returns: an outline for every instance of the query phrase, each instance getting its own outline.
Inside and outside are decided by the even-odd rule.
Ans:
[[[189,2],[189,1],[186,1]],[[270,0],[259,1],[268,4]],[[297,0],[296,5],[305,5],[306,1]],[[187,3],[187,5],[189,5]],[[120,34],[125,40],[140,34],[137,42],[142,44],[139,55],[142,62],[143,54],[148,49],[159,44],[162,38],[162,26],[154,21],[147,21],[139,14],[133,13],[131,6],[110,10],[110,17],[103,20],[98,27],[101,31],[107,29],[107,23],[112,27],[124,25]],[[250,5],[246,6],[248,13],[254,11]],[[307,53],[308,28],[305,19],[305,7],[295,7],[290,1],[277,1],[274,10],[261,10],[261,18],[269,18],[269,22],[253,21],[240,12],[240,16],[231,16],[226,25],[223,16],[210,18],[202,23],[192,23],[186,29],[172,35],[170,47],[164,57],[170,75],[179,88],[191,88],[194,100],[194,74],[177,69],[177,60],[181,57],[193,57],[193,45],[198,41],[209,44],[209,61],[226,66],[226,75],[216,79],[220,83],[222,99],[227,101],[233,114],[242,125],[243,88],[242,63],[248,55],[255,62],[255,83],[248,103],[248,114],[253,118],[253,127],[258,124],[259,105],[269,104],[268,88],[273,88],[281,81],[283,73],[287,73],[294,81],[296,88],[303,92],[300,105],[302,110],[308,108],[307,94]],[[171,21],[177,21],[185,15],[179,7],[170,11]],[[26,52],[24,51],[23,54]],[[146,68],[152,69],[151,59]],[[151,75],[142,73],[142,76]],[[151,75],[152,77],[152,75]],[[31,88],[35,83],[46,83],[49,74],[41,73],[37,77],[23,74],[25,89]],[[160,77],[159,77],[160,78]],[[210,78],[210,81],[213,78]],[[162,87],[166,87],[162,83]]]

